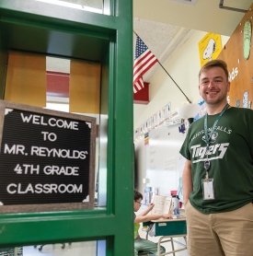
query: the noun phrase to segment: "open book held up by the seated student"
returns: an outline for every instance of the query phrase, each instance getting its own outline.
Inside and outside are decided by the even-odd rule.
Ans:
[[[155,194],[153,203],[155,204],[154,208],[150,214],[154,215],[165,215],[171,213],[172,207],[172,197],[165,195]]]

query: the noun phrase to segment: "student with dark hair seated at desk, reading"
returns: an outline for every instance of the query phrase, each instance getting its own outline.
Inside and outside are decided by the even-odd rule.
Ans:
[[[140,192],[134,191],[134,212],[140,210],[142,205],[143,195]],[[157,244],[147,240],[141,239],[139,236],[140,223],[155,220],[159,218],[170,218],[171,215],[148,215],[148,213],[153,209],[155,204],[149,204],[147,208],[140,215],[135,215],[134,213],[134,256],[138,255],[138,252],[146,252],[147,255],[156,255]],[[166,252],[165,248],[161,246],[161,253]],[[149,254],[150,253],[150,254]]]

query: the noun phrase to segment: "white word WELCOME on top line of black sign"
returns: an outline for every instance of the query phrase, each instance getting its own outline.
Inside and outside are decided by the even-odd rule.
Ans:
[[[31,122],[32,124],[44,125],[44,126],[52,126],[63,129],[71,129],[78,131],[78,122],[68,121],[63,119],[49,118],[46,122],[43,116],[36,114],[28,114],[20,113],[23,122]]]

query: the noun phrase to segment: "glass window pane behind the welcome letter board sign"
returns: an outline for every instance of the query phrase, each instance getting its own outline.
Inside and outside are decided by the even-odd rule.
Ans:
[[[5,99],[96,119],[95,207],[107,204],[108,114],[100,111],[101,105],[106,105],[101,100],[100,80],[98,62],[9,52]]]

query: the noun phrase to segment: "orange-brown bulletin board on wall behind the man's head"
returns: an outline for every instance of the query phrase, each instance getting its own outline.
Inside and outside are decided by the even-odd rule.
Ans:
[[[252,109],[253,100],[252,17],[253,4],[218,56],[228,65],[231,81],[229,103],[249,109]]]

